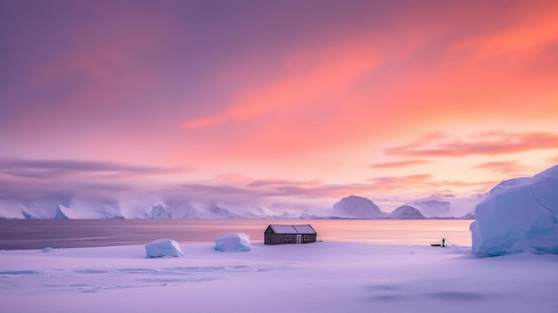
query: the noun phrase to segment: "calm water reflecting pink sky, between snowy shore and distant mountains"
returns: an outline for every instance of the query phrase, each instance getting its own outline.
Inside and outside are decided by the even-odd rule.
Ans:
[[[246,233],[258,243],[269,224],[311,224],[323,241],[423,245],[446,238],[447,244],[471,246],[471,223],[469,219],[0,219],[0,250],[144,244],[160,238],[215,242],[226,233]]]

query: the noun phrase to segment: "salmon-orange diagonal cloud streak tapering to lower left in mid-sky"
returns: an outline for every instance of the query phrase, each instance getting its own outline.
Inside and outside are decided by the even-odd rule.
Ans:
[[[300,60],[306,60],[304,57]],[[296,56],[286,60],[287,73],[257,90],[242,90],[238,100],[225,111],[201,119],[185,121],[184,128],[206,128],[229,121],[254,119],[284,111],[302,111],[333,95],[343,95],[378,65],[378,57],[368,51],[349,48],[330,51],[311,60],[310,68],[292,66]],[[300,62],[300,61],[298,61]],[[297,62],[294,62],[297,63]],[[294,68],[294,69],[292,69]]]

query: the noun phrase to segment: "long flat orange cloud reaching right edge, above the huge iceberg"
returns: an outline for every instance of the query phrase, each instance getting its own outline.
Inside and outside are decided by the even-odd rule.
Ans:
[[[405,157],[464,157],[469,155],[502,155],[558,148],[558,134],[551,132],[507,133],[491,131],[467,136],[464,140],[447,137],[425,137],[386,149],[391,155]]]

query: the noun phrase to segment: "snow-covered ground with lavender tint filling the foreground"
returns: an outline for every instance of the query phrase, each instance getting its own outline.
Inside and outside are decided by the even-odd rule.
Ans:
[[[0,251],[0,312],[555,312],[558,255],[318,242]]]

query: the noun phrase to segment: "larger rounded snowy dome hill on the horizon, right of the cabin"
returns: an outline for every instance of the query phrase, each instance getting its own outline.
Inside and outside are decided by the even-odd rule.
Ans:
[[[343,218],[384,218],[386,214],[370,199],[349,195],[333,204],[333,213]]]

